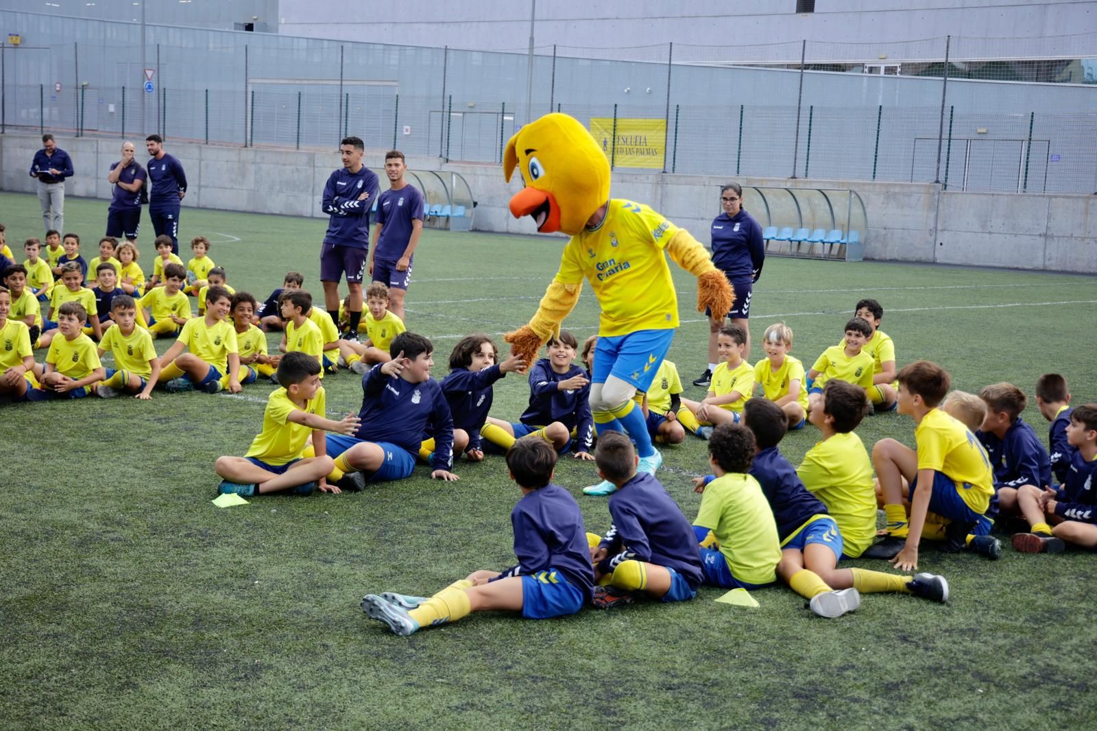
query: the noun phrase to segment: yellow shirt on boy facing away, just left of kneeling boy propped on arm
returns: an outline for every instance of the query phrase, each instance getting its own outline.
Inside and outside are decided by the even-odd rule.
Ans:
[[[815,442],[796,474],[838,524],[846,555],[856,559],[872,546],[877,538],[877,491],[872,461],[860,437],[850,431]]]

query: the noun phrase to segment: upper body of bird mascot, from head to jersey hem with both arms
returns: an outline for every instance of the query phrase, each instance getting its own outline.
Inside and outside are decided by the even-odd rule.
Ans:
[[[664,250],[697,277],[698,311],[708,307],[720,318],[731,311],[732,285],[689,232],[646,205],[610,200],[609,161],[575,119],[546,114],[522,127],[504,154],[508,182],[516,168],[525,187],[510,199],[511,214],[531,216],[541,233],[572,236],[538,312],[504,338],[525,362],[534,362],[541,346],[559,334],[584,279],[601,305],[599,335],[677,327],[677,295]]]

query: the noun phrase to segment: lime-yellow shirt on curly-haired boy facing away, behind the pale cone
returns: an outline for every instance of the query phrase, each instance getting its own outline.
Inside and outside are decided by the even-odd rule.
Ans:
[[[728,473],[710,482],[693,525],[716,536],[735,578],[748,584],[777,581],[781,541],[766,494],[753,476]]]

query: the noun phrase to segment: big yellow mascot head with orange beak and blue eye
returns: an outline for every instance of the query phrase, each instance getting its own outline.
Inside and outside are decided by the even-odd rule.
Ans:
[[[507,181],[525,188],[510,199],[516,218],[532,216],[542,234],[575,236],[610,198],[610,164],[587,128],[567,114],[546,114],[518,131],[502,155]]]

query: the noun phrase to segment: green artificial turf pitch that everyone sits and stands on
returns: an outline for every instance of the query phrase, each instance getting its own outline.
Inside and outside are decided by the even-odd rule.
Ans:
[[[32,195],[0,195],[22,259],[41,236]],[[103,201],[69,199],[66,229],[95,256]],[[228,281],[260,301],[287,270],[323,302],[326,222],[186,209],[180,255],[203,234]],[[140,263],[155,251],[142,222]],[[702,236],[704,232],[700,233]],[[523,324],[555,272],[563,240],[427,230],[407,302],[409,329],[446,372],[456,339]],[[871,246],[871,243],[870,243]],[[671,267],[682,326],[670,359],[686,394],[703,370],[708,327],[695,288]],[[770,258],[755,290],[761,331],[785,320],[811,364],[841,337],[853,304],[883,304],[900,366],[928,358],[968,391],[1011,381],[1030,398],[1045,371],[1074,403],[1097,398],[1092,277]],[[589,288],[565,326],[596,331]],[[271,349],[279,336],[270,336]],[[170,341],[157,341],[163,352]],[[45,351],[36,351],[43,360]],[[326,378],[328,414],[357,411],[359,379]],[[816,618],[791,589],[760,607],[717,604],[704,587],[680,605],[528,621],[474,615],[398,638],[359,608],[366,592],[433,593],[476,569],[513,563],[509,511],[520,496],[501,458],[457,462],[456,483],[412,479],[360,494],[255,498],[218,509],[213,462],[245,453],[273,386],[242,394],[157,393],[151,402],[87,398],[0,408],[0,726],[16,728],[1047,728],[1097,722],[1092,689],[1094,554],[1024,555],[1004,542],[989,562],[923,550],[947,605],[864,595],[861,609]],[[517,419],[528,386],[510,375],[493,415]],[[1025,413],[1045,438],[1034,403]],[[858,434],[913,443],[908,417],[867,418]],[[794,464],[808,426],[782,451]],[[663,449],[659,477],[690,519],[704,442]],[[591,463],[563,458],[556,482],[589,530],[609,525]],[[885,569],[883,562],[845,565]]]

